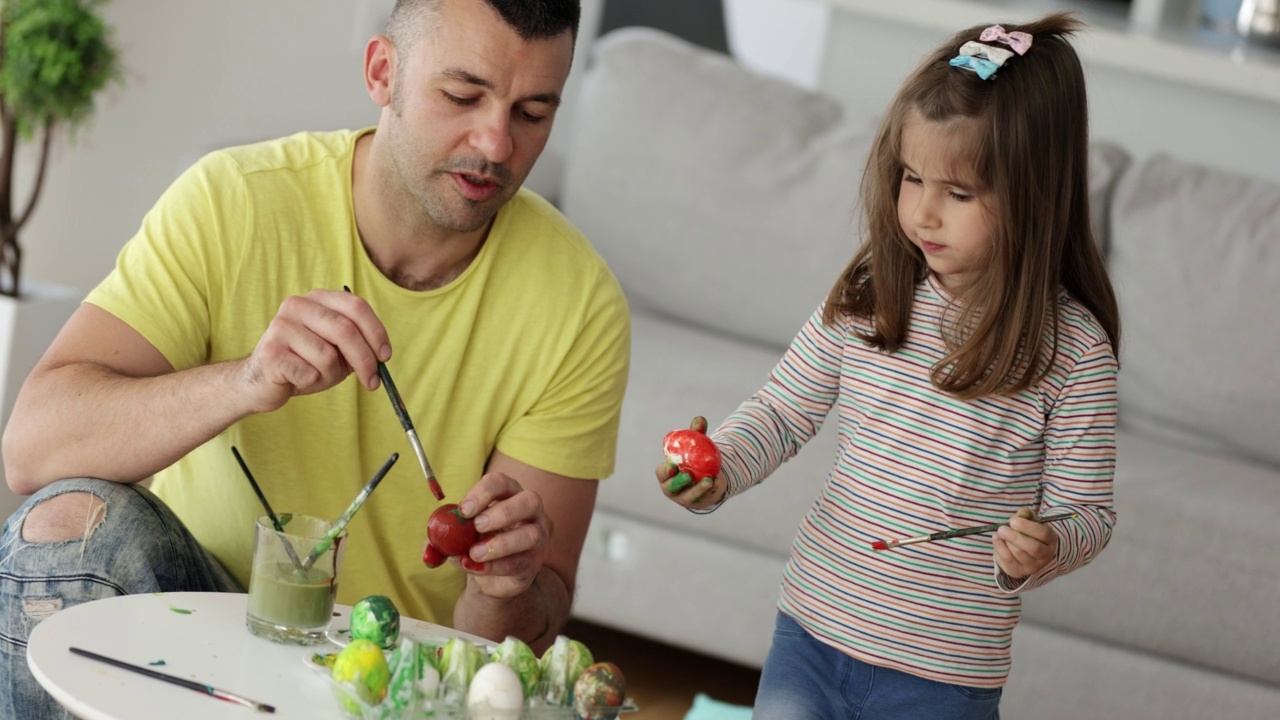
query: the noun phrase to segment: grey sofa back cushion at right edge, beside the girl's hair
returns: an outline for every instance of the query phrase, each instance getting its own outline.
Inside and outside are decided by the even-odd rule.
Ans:
[[[1280,184],[1155,156],[1111,215],[1121,424],[1280,465]]]

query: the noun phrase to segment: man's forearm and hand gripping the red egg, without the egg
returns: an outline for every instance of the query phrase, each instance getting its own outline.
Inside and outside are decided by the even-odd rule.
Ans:
[[[484,543],[477,544],[475,553],[481,555],[472,559],[486,562],[485,574],[467,577],[453,624],[494,641],[516,635],[541,655],[568,620],[598,482],[539,470],[494,451],[489,471],[463,505],[488,505],[492,488],[498,486],[497,474],[522,489],[477,515],[495,523],[481,530],[485,534],[509,532],[493,541],[492,557],[485,557]],[[539,498],[540,511],[535,507]],[[512,524],[517,518],[522,519]]]

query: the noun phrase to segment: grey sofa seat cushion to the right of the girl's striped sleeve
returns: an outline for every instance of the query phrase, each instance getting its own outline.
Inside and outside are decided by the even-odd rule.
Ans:
[[[1129,432],[1117,451],[1111,544],[1024,619],[1280,684],[1280,471]]]

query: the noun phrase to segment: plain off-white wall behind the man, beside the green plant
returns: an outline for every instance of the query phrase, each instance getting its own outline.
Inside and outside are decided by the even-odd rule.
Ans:
[[[364,44],[393,0],[110,0],[125,82],[59,143],[23,233],[24,277],[91,290],[165,187],[204,152],[376,123]],[[584,29],[599,0],[584,3]],[[584,32],[584,42],[590,32]],[[581,54],[581,51],[580,51]],[[577,63],[580,64],[580,63]],[[566,96],[576,92],[577,72]],[[563,145],[557,126],[552,154]],[[29,152],[28,152],[29,155]],[[24,158],[31,164],[29,158]],[[531,183],[549,182],[544,174]],[[29,174],[29,173],[28,173]]]

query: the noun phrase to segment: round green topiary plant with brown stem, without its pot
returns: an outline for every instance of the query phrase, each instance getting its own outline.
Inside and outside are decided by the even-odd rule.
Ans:
[[[0,6],[0,295],[22,292],[19,233],[40,200],[56,131],[74,131],[93,97],[119,79],[118,54],[97,6],[105,0],[3,0]],[[40,142],[36,178],[18,197],[18,143]]]

